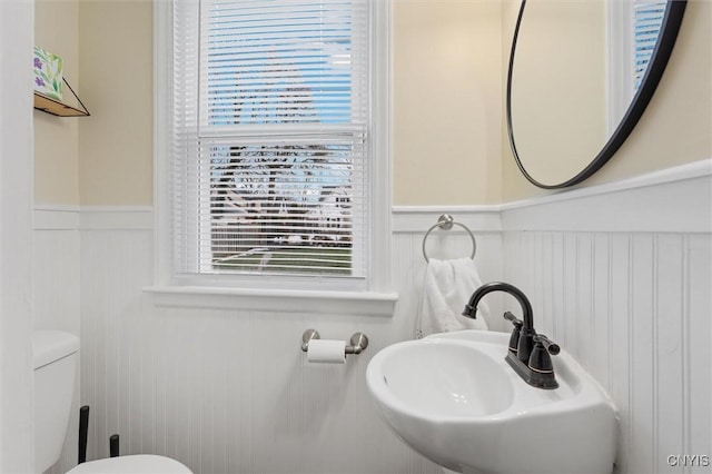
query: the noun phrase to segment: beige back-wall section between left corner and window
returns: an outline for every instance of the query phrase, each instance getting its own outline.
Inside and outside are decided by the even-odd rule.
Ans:
[[[79,129],[79,189],[86,206],[152,203],[151,0],[82,0],[79,71],[91,117]]]

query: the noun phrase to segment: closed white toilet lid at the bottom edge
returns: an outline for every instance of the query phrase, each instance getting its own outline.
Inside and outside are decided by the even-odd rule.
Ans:
[[[79,464],[67,474],[192,474],[176,460],[152,454],[108,457]]]

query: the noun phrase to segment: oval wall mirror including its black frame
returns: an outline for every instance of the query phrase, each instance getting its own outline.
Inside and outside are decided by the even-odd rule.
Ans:
[[[534,185],[597,171],[641,118],[684,0],[522,0],[507,73],[510,145]]]

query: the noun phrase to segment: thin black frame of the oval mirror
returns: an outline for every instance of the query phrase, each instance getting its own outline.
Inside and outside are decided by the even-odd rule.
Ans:
[[[686,4],[686,0],[668,0],[668,4],[665,6],[665,17],[663,18],[663,23],[660,29],[657,45],[655,46],[655,49],[653,51],[651,61],[647,66],[647,70],[643,76],[641,86],[635,92],[635,96],[633,96],[633,100],[625,111],[625,115],[621,119],[621,122],[613,131],[611,138],[609,138],[606,144],[603,146],[603,149],[576,176],[557,185],[545,185],[534,179],[524,168],[524,165],[522,164],[522,160],[520,159],[516,150],[516,142],[514,140],[514,131],[512,128],[512,73],[514,70],[514,57],[516,52],[516,41],[520,34],[520,24],[522,23],[522,18],[524,16],[524,8],[526,7],[526,0],[522,0],[520,14],[517,16],[516,26],[514,29],[514,37],[512,38],[512,50],[510,52],[510,69],[507,71],[506,90],[506,115],[507,132],[510,136],[510,146],[512,148],[512,154],[514,155],[516,165],[520,167],[520,170],[526,177],[526,179],[528,179],[533,185],[544,189],[566,188],[568,186],[577,185],[584,179],[591,177],[591,175],[601,169],[601,167],[603,167],[603,165],[605,165],[606,161],[611,159],[611,157],[617,151],[621,145],[623,145],[629,135],[631,135],[633,128],[635,128],[635,125],[642,117],[645,108],[647,107],[647,103],[650,103],[650,100],[653,97],[655,89],[657,88],[660,78],[663,76],[663,71],[665,70],[665,66],[668,65],[668,60],[670,59],[672,49],[675,46],[675,39],[678,38],[678,32],[680,31],[680,24],[682,23],[682,17],[684,14]]]

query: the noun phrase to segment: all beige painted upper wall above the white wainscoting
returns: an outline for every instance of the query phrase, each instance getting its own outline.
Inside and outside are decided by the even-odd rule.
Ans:
[[[516,7],[394,0],[394,204],[478,205],[546,194],[520,174],[504,127]],[[705,0],[689,2],[644,117],[583,186],[712,156],[711,9]],[[79,119],[34,112],[36,203],[150,205],[151,1],[37,0],[36,10],[36,42],[65,58],[66,76],[91,111]]]

